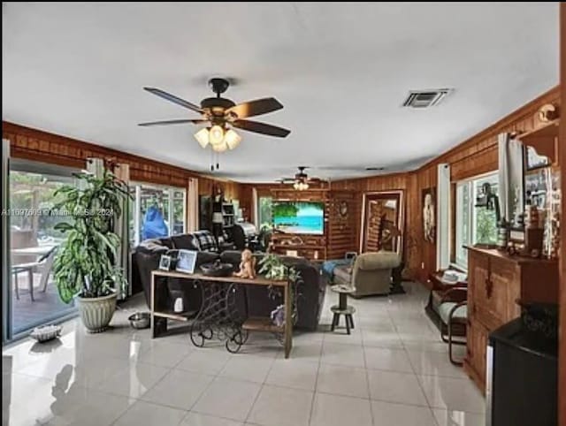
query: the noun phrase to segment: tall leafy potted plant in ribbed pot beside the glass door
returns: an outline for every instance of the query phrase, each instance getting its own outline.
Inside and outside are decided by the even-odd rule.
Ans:
[[[112,232],[128,197],[126,184],[110,171],[102,177],[88,172],[76,175],[77,186],[62,186],[56,209],[71,220],[55,228],[65,233],[53,263],[59,297],[76,300],[82,323],[89,332],[108,328],[116,309],[117,289],[126,284],[123,270],[115,266],[119,236]]]

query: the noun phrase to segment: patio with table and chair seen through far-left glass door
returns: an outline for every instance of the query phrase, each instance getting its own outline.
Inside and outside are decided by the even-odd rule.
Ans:
[[[12,332],[73,312],[57,293],[51,264],[64,240],[54,229],[66,218],[50,214],[57,203],[57,188],[73,178],[25,171],[10,171],[10,261]]]

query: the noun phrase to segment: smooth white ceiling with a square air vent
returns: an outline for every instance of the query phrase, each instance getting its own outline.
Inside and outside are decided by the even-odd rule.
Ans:
[[[198,103],[210,76],[229,76],[239,84],[226,97],[275,96],[284,110],[257,119],[292,133],[241,132],[223,176],[408,170],[557,84],[558,7],[3,3],[2,116],[207,171],[194,126],[136,126],[196,116],[142,87]],[[455,92],[430,110],[401,108],[410,89],[433,87]]]

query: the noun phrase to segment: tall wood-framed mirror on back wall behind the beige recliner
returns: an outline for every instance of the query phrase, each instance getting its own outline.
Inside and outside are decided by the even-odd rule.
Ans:
[[[363,194],[360,253],[386,250],[401,254],[403,215],[402,191]]]

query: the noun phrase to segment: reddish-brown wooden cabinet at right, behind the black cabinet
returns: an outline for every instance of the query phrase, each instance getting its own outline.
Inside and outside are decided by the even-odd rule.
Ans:
[[[468,327],[464,369],[486,389],[486,346],[491,331],[520,316],[517,301],[556,303],[558,263],[468,249]]]

